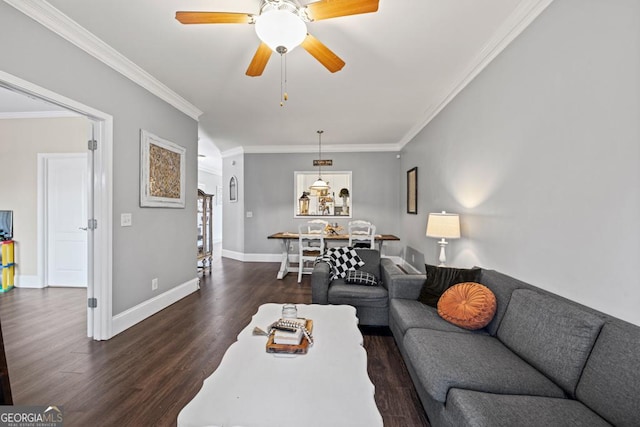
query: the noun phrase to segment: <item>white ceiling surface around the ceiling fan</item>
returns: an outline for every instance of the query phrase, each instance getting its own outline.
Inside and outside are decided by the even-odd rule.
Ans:
[[[302,48],[261,77],[246,24],[182,25],[178,10],[257,13],[260,0],[49,0],[203,114],[202,152],[399,150],[551,0],[380,0],[377,13],[312,22],[345,62],[331,74]],[[308,3],[304,1],[303,3]],[[213,144],[211,144],[213,143]]]

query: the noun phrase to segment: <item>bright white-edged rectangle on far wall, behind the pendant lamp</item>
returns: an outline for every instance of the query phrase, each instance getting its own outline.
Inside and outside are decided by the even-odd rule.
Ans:
[[[294,172],[294,218],[341,217],[351,218],[351,172],[323,172],[328,190],[311,190],[318,179],[318,171]]]

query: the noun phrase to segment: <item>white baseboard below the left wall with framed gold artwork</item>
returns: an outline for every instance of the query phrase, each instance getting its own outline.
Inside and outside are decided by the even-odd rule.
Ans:
[[[160,310],[169,307],[171,304],[180,301],[182,298],[190,295],[200,289],[200,279],[193,278],[188,282],[176,286],[173,289],[164,292],[157,297],[153,297],[143,303],[131,307],[122,313],[113,316],[111,321],[111,337],[118,335],[133,325],[142,322],[147,317],[153,316]]]

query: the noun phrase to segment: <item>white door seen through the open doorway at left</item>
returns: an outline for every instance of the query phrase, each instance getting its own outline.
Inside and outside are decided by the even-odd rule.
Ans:
[[[48,286],[87,286],[87,176],[86,153],[47,159]]]

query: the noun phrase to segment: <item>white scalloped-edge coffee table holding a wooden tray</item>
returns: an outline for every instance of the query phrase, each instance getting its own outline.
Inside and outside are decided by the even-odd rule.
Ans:
[[[307,354],[267,353],[266,329],[282,304],[264,304],[225,353],[220,366],[178,415],[178,427],[382,426],[367,374],[356,311],[346,305],[298,305],[313,319]]]

